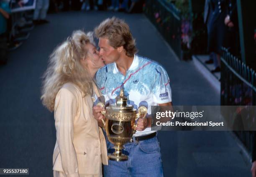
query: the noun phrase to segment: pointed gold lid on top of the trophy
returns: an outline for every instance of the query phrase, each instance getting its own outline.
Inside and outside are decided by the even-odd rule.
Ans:
[[[120,110],[133,110],[133,106],[130,104],[127,104],[127,96],[124,94],[124,89],[120,89],[120,94],[115,98],[116,102],[115,104],[111,104],[110,107],[111,109],[115,111],[120,111]]]

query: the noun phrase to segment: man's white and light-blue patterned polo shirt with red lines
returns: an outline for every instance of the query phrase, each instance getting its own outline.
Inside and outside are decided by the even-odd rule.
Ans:
[[[111,63],[100,68],[96,74],[96,82],[106,104],[114,104],[116,96],[123,87],[128,104],[138,109],[146,106],[148,115],[151,115],[151,106],[172,101],[172,90],[165,69],[156,61],[134,55],[133,63],[123,76],[116,63]],[[151,128],[136,131],[134,136],[153,133]]]

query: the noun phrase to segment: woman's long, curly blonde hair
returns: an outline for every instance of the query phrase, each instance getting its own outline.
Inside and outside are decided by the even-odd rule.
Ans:
[[[92,33],[76,30],[51,54],[43,76],[41,96],[44,106],[50,111],[54,111],[55,97],[65,83],[74,83],[84,95],[92,94],[92,78],[81,63],[81,59],[87,55],[85,45],[88,43],[94,44]]]

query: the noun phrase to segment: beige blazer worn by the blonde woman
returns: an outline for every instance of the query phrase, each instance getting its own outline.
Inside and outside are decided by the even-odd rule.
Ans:
[[[83,97],[73,83],[64,84],[56,95],[53,169],[67,177],[98,174],[101,162],[108,164],[105,137],[94,119],[92,105],[91,96]]]

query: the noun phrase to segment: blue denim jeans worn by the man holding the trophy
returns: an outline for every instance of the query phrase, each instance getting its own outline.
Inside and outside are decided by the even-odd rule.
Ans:
[[[104,165],[104,177],[163,177],[160,146],[157,137],[125,144],[123,154],[128,160],[108,161]],[[114,152],[113,144],[107,139],[108,154]]]

